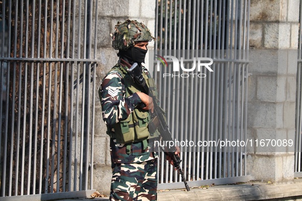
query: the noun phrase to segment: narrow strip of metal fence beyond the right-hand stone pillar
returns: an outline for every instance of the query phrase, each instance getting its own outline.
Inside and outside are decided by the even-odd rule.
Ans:
[[[297,66],[297,93],[296,93],[296,135],[295,135],[295,177],[302,177],[302,3],[300,1],[299,18],[299,43],[298,43],[298,66]]]

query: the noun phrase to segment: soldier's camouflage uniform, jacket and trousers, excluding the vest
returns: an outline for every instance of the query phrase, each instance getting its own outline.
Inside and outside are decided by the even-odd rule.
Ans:
[[[126,119],[141,103],[140,97],[133,93],[126,96],[120,62],[115,65],[103,79],[99,95],[102,104],[103,119],[108,132],[113,132],[115,124]],[[143,72],[150,78],[150,73],[144,67]],[[118,135],[118,134],[117,134]],[[112,181],[110,200],[156,200],[157,188],[157,153],[151,147],[153,143],[147,140],[148,147],[143,141],[119,143],[114,135],[110,138],[110,155],[112,162]],[[131,147],[130,150],[129,146]]]

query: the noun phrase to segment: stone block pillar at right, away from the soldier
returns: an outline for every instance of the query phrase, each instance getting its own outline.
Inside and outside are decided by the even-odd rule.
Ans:
[[[293,139],[297,73],[299,1],[261,0],[250,4],[248,79],[248,137]],[[291,149],[263,150],[248,155],[255,180],[287,182],[294,179]]]

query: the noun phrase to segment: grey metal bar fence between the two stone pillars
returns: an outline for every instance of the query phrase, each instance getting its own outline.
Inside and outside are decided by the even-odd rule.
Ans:
[[[198,55],[212,58],[214,72],[203,79],[177,74],[163,78],[153,70],[161,107],[174,139],[244,141],[247,119],[249,0],[158,0],[154,55]],[[199,52],[198,52],[199,51]],[[167,61],[167,74],[172,71]],[[192,64],[184,59],[184,66]],[[155,66],[161,65],[155,60]],[[191,65],[192,66],[192,65]],[[197,71],[194,71],[197,74]],[[187,77],[187,76],[185,76]],[[246,147],[184,146],[180,155],[189,185],[249,181]],[[183,188],[181,178],[160,155],[159,189]],[[169,183],[169,184],[168,184]]]

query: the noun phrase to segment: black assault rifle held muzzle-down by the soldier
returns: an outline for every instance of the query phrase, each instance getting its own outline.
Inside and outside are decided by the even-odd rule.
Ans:
[[[157,105],[155,96],[152,93],[149,93],[149,87],[147,86],[146,80],[143,77],[141,69],[137,65],[137,63],[134,63],[128,69],[128,73],[130,74],[133,81],[142,88],[142,92],[146,93],[147,95],[149,95],[153,99],[154,109],[153,109],[153,114],[151,114],[151,117],[152,117],[153,120],[150,121],[149,126],[152,124],[153,125],[152,126],[153,130],[156,130],[156,128],[158,129],[158,131],[159,131],[159,133],[162,137],[162,140],[164,140],[166,142],[167,141],[173,141],[172,135],[169,131],[169,127],[168,127],[167,122],[165,120],[164,114],[162,114],[161,109]],[[150,129],[151,128],[149,127],[149,130]],[[166,147],[165,154],[172,157],[174,167],[178,169],[185,188],[187,189],[187,191],[190,191],[190,187],[189,187],[189,185],[187,183],[187,180],[184,177],[183,171],[180,167],[181,160],[179,159],[178,154],[175,154],[175,152],[176,152],[176,147],[175,146]]]

